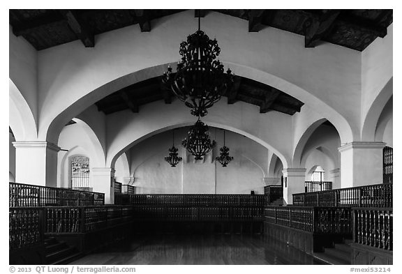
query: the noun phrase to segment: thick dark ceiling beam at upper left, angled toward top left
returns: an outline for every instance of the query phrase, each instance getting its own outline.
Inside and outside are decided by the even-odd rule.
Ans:
[[[75,33],[85,47],[95,46],[94,32],[91,31],[89,25],[80,18],[74,10],[59,10],[61,15],[66,19],[68,26]]]

